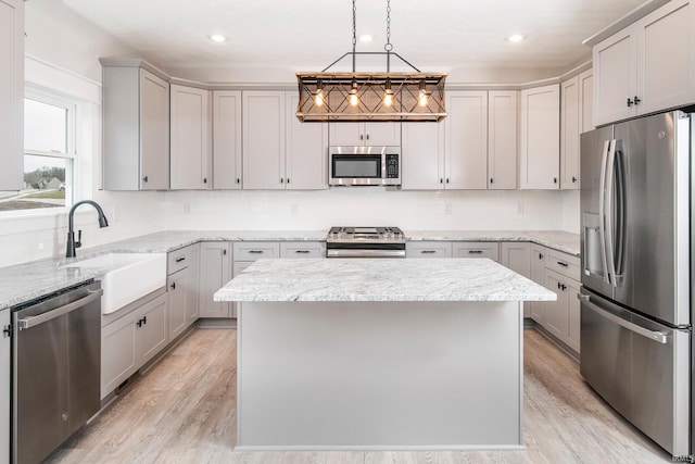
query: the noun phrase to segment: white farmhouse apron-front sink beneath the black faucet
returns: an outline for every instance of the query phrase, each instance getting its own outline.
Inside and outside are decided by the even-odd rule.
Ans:
[[[106,269],[99,277],[101,313],[111,314],[166,285],[166,253],[108,253],[64,267]]]

